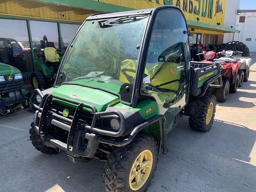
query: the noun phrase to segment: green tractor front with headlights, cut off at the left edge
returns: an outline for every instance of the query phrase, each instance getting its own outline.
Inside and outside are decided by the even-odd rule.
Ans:
[[[26,106],[26,92],[19,69],[0,63],[0,114],[7,115]]]

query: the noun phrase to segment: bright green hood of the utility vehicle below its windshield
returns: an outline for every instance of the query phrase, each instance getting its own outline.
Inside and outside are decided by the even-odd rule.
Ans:
[[[119,97],[99,89],[83,87],[80,85],[63,84],[59,88],[52,88],[53,95],[83,102],[94,106],[98,112],[105,111],[108,104],[119,100]],[[74,106],[72,106],[74,107]]]

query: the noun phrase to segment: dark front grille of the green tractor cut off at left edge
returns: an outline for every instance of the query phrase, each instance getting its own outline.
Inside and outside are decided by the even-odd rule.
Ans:
[[[0,83],[0,93],[14,92],[24,88],[23,79],[14,80],[14,75],[12,76],[13,80],[7,80],[8,76],[4,76],[5,82]]]

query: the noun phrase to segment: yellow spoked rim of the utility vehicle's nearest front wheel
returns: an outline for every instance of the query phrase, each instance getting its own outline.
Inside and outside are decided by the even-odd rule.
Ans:
[[[149,149],[142,151],[132,164],[129,185],[132,191],[138,191],[148,180],[153,165],[153,154]]]

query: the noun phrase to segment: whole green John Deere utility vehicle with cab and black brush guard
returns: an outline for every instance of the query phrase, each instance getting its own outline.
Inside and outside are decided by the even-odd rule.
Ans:
[[[190,62],[188,33],[173,6],[89,16],[54,86],[32,92],[34,147],[105,162],[106,192],[145,191],[181,116],[193,130],[212,127],[220,65]]]

